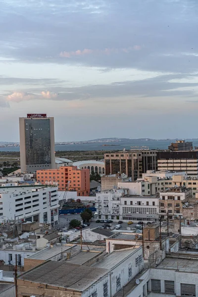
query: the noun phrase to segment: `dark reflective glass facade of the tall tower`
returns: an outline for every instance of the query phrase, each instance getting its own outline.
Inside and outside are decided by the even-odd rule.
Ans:
[[[25,119],[26,164],[50,164],[50,120]]]

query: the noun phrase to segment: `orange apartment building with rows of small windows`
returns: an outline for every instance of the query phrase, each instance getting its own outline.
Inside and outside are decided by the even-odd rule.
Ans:
[[[78,169],[77,166],[62,166],[58,169],[37,170],[37,182],[41,184],[53,184],[56,182],[59,191],[66,190],[68,181],[70,181],[69,191],[77,191],[78,196],[89,196],[89,169]]]

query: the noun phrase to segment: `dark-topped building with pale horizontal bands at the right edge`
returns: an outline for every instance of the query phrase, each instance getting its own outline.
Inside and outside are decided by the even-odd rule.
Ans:
[[[158,151],[158,170],[186,172],[189,177],[198,176],[198,150]]]

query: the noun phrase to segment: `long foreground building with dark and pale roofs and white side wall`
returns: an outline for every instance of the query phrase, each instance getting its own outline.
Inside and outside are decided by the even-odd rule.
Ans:
[[[24,273],[17,281],[18,297],[113,297],[143,267],[142,247],[115,250],[105,257],[81,250],[68,254],[66,261],[47,261]]]

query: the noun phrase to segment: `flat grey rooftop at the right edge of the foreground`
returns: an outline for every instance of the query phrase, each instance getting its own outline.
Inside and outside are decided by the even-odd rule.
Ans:
[[[192,255],[193,257],[193,255]],[[198,260],[166,257],[156,269],[178,270],[180,272],[198,273]]]

